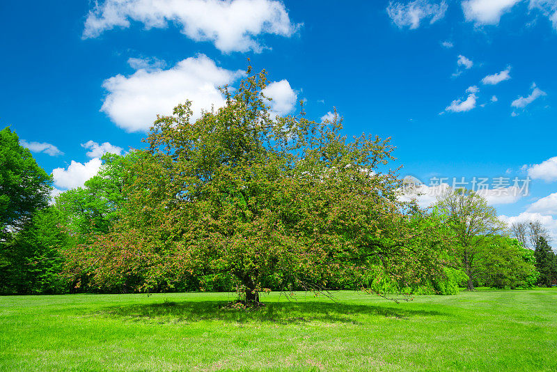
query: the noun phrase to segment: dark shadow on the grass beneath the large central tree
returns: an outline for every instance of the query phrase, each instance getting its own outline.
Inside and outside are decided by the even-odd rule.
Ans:
[[[271,302],[258,309],[227,309],[227,302],[162,302],[109,307],[100,315],[152,320],[159,323],[196,322],[199,320],[223,320],[230,323],[249,321],[278,324],[306,323],[317,320],[327,323],[359,324],[359,316],[380,316],[407,320],[412,316],[446,315],[438,311],[397,309],[366,305],[340,304],[338,302]]]

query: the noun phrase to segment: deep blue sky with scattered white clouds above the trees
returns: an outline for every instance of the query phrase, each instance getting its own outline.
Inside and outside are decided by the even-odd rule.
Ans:
[[[3,1],[0,32],[1,124],[57,189],[141,148],[175,104],[218,106],[250,58],[278,113],[306,100],[348,135],[391,137],[423,205],[432,178],[487,178],[503,219],[557,238],[557,0]]]

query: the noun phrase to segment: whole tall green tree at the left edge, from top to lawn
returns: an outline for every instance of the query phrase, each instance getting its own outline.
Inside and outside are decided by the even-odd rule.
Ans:
[[[48,206],[52,177],[10,128],[0,131],[0,291],[59,293],[67,244],[59,216]]]

